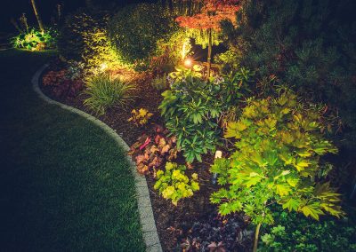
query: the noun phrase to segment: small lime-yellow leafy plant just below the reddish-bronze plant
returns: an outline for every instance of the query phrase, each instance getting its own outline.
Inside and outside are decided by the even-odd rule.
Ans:
[[[174,206],[182,198],[189,198],[199,190],[198,174],[193,173],[190,179],[184,174],[185,169],[187,169],[185,165],[166,162],[166,170],[159,169],[157,171],[158,180],[154,188],[163,198],[171,200]]]

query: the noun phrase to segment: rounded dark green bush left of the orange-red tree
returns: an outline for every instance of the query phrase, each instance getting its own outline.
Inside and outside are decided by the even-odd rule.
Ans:
[[[174,19],[158,4],[128,5],[109,20],[109,37],[130,64],[147,67],[159,40],[176,29]]]

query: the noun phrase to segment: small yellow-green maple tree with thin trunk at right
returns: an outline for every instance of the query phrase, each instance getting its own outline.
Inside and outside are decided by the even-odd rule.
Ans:
[[[279,98],[248,100],[239,121],[228,124],[225,137],[237,140],[237,150],[211,167],[223,186],[211,201],[221,215],[245,212],[257,225],[256,238],[261,224],[273,223],[273,204],[316,220],[344,214],[336,189],[316,182],[327,165],[320,156],[337,149],[321,135],[315,107],[286,91]]]

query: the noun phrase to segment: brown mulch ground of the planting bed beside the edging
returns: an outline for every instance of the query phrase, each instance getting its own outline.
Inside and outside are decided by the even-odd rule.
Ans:
[[[58,69],[58,67],[56,67],[58,65],[54,64],[52,66],[53,67],[49,67],[47,71]],[[151,87],[150,79],[150,75],[142,75],[137,79],[136,85],[138,91],[134,103],[131,103],[125,108],[111,108],[106,114],[98,117],[102,122],[105,122],[109,127],[116,130],[117,134],[120,135],[129,146],[133,145],[137,138],[143,134],[150,135],[154,131],[155,126],[164,125],[158,111],[158,105],[162,100],[160,95],[161,91],[156,91]],[[56,98],[53,97],[52,87],[41,84],[40,88],[46,96],[54,100],[77,107],[88,114],[93,114],[91,110],[83,105],[83,101],[86,98],[84,94],[80,94],[75,98]],[[154,115],[150,119],[150,124],[138,128],[134,126],[133,123],[127,122],[127,120],[131,117],[132,109],[141,107],[148,109],[150,113]],[[93,115],[95,116],[95,114]],[[210,194],[216,189],[211,183],[211,174],[209,173],[209,167],[214,161],[214,157],[206,155],[203,160],[201,163],[193,163],[193,171],[198,173],[200,190],[194,193],[193,197],[179,201],[177,207],[175,207],[171,201],[166,201],[159,196],[158,192],[153,189],[155,179],[146,176],[158,235],[164,251],[181,251],[182,249],[180,249],[179,245],[182,243],[182,238],[187,237],[187,232],[190,232],[189,228],[184,230],[184,227],[190,227],[197,221],[207,222],[212,215],[216,216],[216,208],[209,201]],[[177,162],[183,163],[184,161],[182,157],[180,157]],[[246,227],[246,225],[247,222],[244,226]],[[243,250],[245,249],[239,249],[239,251]]]

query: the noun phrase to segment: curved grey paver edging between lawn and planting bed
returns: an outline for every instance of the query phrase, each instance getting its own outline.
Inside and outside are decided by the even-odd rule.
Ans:
[[[36,74],[32,77],[32,81],[31,81],[31,83],[33,84],[33,89],[34,91],[36,91],[36,94],[39,96],[39,98],[42,98],[44,101],[46,101],[49,104],[61,106],[61,108],[69,110],[70,112],[78,114],[84,117],[85,119],[93,122],[95,125],[99,126],[102,130],[108,133],[111,138],[114,138],[118,146],[121,146],[124,148],[125,151],[128,151],[129,146],[127,146],[125,141],[122,138],[120,138],[120,136],[117,135],[117,132],[115,132],[115,130],[112,130],[107,124],[93,117],[93,115],[86,114],[85,112],[77,108],[74,108],[72,106],[67,106],[60,102],[54,101],[53,99],[48,98],[44,95],[44,93],[39,89],[39,76],[43,73],[46,67],[48,67],[48,64],[38,69]],[[135,181],[136,193],[137,193],[137,202],[139,206],[140,222],[142,224],[142,235],[146,244],[146,250],[151,252],[161,252],[162,247],[158,238],[155,219],[153,217],[152,206],[150,203],[149,187],[147,185],[146,178],[140,176],[136,172],[136,165],[134,161],[132,161],[131,158],[128,156],[127,156],[127,161],[129,161],[130,168],[134,174],[134,181]]]

